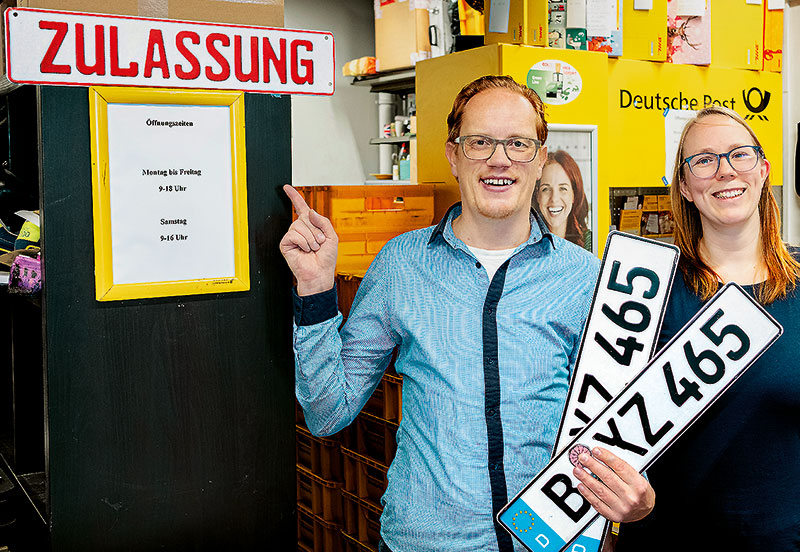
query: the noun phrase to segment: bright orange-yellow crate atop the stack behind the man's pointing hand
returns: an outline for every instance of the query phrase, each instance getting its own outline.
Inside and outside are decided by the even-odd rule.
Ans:
[[[339,236],[336,270],[363,275],[393,237],[430,226],[433,186],[302,186],[306,203],[328,217]]]

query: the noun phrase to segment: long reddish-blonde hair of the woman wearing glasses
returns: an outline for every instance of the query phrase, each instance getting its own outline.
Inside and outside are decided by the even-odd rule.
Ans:
[[[724,115],[744,127],[753,139],[754,145],[761,148],[753,129],[735,111],[711,106],[700,110],[694,119],[686,123],[678,144],[675,156],[675,170],[672,174],[672,212],[675,217],[675,245],[681,250],[679,267],[689,289],[693,290],[703,301],[710,298],[719,287],[719,275],[701,258],[698,251],[700,238],[703,237],[703,226],[700,213],[694,203],[681,194],[681,183],[686,171],[684,165],[684,141],[689,130],[701,119],[711,115]],[[761,149],[763,155],[763,149]],[[800,278],[800,263],[794,260],[786,245],[781,240],[781,219],[775,196],[772,195],[770,176],[764,180],[761,197],[758,201],[758,214],[761,221],[761,255],[767,267],[767,279],[757,286],[756,298],[763,304],[769,304],[786,296],[797,286]]]

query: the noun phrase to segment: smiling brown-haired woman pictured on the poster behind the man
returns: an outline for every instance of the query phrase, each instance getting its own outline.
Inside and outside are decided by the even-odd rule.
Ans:
[[[569,153],[556,150],[547,155],[533,200],[551,232],[592,250],[592,233],[586,223],[589,202],[581,169]]]

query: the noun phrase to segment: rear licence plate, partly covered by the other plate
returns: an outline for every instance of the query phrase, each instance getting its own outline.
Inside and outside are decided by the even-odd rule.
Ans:
[[[653,356],[679,256],[674,245],[609,234],[554,454]],[[576,550],[600,550],[605,528],[605,519],[594,521],[575,541]]]

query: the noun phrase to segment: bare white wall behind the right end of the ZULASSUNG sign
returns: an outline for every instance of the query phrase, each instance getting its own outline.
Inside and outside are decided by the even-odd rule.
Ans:
[[[342,65],[375,55],[370,0],[285,0],[286,28],[333,33],[336,83],[333,96],[292,96],[292,180],[295,186],[363,184],[378,172],[377,95],[353,86]]]

